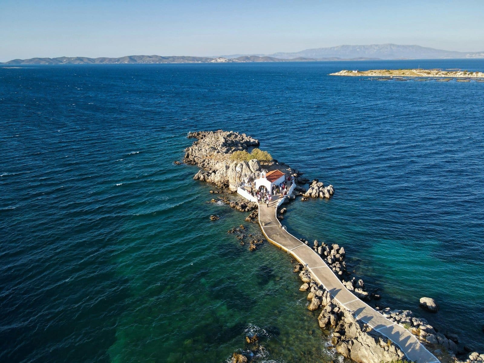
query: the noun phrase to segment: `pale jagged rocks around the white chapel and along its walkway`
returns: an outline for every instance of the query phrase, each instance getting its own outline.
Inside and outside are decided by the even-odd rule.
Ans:
[[[233,193],[237,190],[241,173],[242,175],[248,175],[260,172],[262,168],[266,170],[278,169],[291,175],[294,181],[299,184],[297,193],[302,196],[302,200],[307,200],[309,197],[329,198],[334,193],[332,185],[325,187],[318,180],[313,180],[306,191],[302,185],[307,184],[309,180],[303,178],[299,170],[272,160],[272,158],[271,160],[263,161],[257,159],[234,160],[235,152],[243,151],[248,153],[251,148],[259,146],[259,141],[251,136],[218,130],[215,132],[189,133],[188,137],[197,138],[191,147],[185,149],[183,158],[184,163],[200,167],[194,179],[210,182],[228,193]],[[211,192],[214,194],[218,193],[216,191]],[[214,200],[212,199],[212,201]],[[251,212],[246,221],[257,222],[259,218],[257,203],[237,202],[230,200],[228,197],[220,197],[220,200],[241,212]],[[295,200],[295,198],[287,198],[287,200]],[[286,208],[278,209],[277,219],[283,219],[282,214],[286,212]],[[263,226],[264,223],[261,224],[261,229],[263,229]],[[241,225],[239,228],[232,228],[228,233],[240,235],[238,239],[243,242],[245,237],[242,235],[243,229],[244,227]],[[264,234],[266,233],[264,232]],[[249,237],[253,236],[249,235]],[[270,239],[268,238],[268,240]],[[318,240],[312,243],[305,239],[300,239],[300,241],[314,250],[314,253],[321,258],[321,263],[327,265],[343,286],[354,294],[355,300],[360,299],[370,302],[380,298],[375,292],[366,290],[362,279],[356,279],[351,276],[347,269],[346,251],[343,246],[318,242]],[[262,240],[253,239],[250,242],[250,249],[256,249],[257,243],[261,242]],[[315,278],[314,271],[311,271],[303,264],[297,263],[294,265],[293,272],[299,273],[299,277],[302,280],[300,290],[308,293],[307,308],[310,311],[320,311],[317,315],[319,326],[324,333],[330,336],[333,348],[338,353],[358,363],[408,361],[405,352],[393,340],[380,333],[379,329],[372,328],[363,319],[360,319],[355,312],[348,309],[344,303],[335,299],[333,297],[334,292],[323,287],[320,281]],[[420,304],[427,311],[438,311],[438,304],[433,299],[422,298]],[[381,308],[378,306],[375,307],[375,310],[381,313],[383,318],[389,319],[391,324],[398,324],[405,329],[403,331],[412,334],[440,362],[484,362],[484,354],[471,351],[457,336],[440,332],[438,328],[430,325],[427,320],[414,316],[411,311],[393,310],[389,307]],[[408,333],[406,334],[408,335]],[[247,337],[248,343],[253,344],[254,341],[251,337]],[[419,344],[418,342],[416,344]],[[260,348],[258,344],[254,349],[256,348]],[[248,351],[234,354],[232,362],[251,362],[255,356],[257,354],[254,354],[254,351],[249,349]],[[437,361],[428,360],[428,362],[434,363]]]

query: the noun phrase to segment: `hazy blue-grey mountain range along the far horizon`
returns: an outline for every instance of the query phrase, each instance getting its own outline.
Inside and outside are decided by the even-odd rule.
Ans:
[[[225,63],[225,62],[284,62],[284,61],[363,61],[393,59],[484,58],[483,52],[456,52],[423,47],[420,45],[372,44],[339,45],[329,48],[306,49],[295,53],[269,55],[229,55],[221,57],[190,56],[126,56],[121,58],[58,57],[14,59],[0,64],[135,64],[135,63]]]

